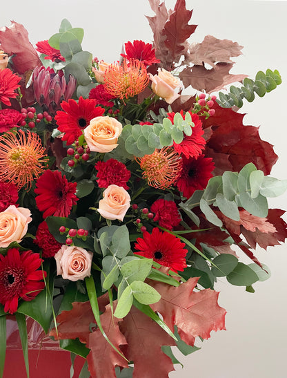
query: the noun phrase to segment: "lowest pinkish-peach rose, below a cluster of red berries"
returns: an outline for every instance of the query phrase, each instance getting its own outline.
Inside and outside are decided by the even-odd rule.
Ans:
[[[64,280],[78,281],[90,276],[92,266],[92,252],[75,245],[62,245],[55,254],[57,274]]]

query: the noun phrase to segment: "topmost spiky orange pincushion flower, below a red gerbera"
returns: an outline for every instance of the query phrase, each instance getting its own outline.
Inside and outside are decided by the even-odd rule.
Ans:
[[[146,66],[138,59],[127,62],[123,60],[120,66],[110,64],[104,74],[106,91],[117,98],[134,97],[148,85],[149,78]]]

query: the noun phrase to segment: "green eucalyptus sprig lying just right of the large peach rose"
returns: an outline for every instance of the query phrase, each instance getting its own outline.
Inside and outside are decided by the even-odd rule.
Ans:
[[[180,113],[175,113],[173,124],[166,117],[162,123],[152,125],[127,124],[121,133],[125,149],[131,155],[141,158],[143,155],[152,154],[155,149],[172,146],[173,142],[179,144],[184,139],[184,134],[192,134],[190,113],[186,113],[185,120]]]

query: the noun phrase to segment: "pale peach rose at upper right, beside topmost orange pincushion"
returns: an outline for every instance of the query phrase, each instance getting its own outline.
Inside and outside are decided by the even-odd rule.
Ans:
[[[168,104],[172,104],[179,97],[178,91],[182,88],[180,80],[164,68],[159,68],[157,75],[151,75],[152,91],[162,97]]]

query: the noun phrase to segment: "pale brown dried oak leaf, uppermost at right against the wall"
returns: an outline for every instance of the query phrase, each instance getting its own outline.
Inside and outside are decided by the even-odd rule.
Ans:
[[[212,35],[206,35],[201,44],[190,48],[188,59],[193,64],[204,66],[204,63],[215,67],[216,62],[232,63],[230,57],[241,55],[241,48],[237,42],[228,39],[217,39]]]

